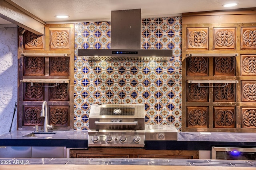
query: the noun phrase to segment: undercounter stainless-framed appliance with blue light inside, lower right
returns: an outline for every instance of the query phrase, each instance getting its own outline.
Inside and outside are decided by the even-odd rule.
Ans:
[[[256,160],[256,148],[212,147],[212,159]]]

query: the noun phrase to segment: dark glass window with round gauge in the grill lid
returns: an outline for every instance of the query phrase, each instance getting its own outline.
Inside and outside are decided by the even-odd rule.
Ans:
[[[101,107],[100,115],[122,115],[134,116],[134,108],[132,107]]]

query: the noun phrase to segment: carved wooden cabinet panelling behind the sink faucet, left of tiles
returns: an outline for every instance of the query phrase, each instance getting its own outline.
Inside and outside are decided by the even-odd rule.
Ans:
[[[19,35],[18,129],[43,129],[42,103],[54,130],[73,130],[74,24],[46,25],[45,35]]]

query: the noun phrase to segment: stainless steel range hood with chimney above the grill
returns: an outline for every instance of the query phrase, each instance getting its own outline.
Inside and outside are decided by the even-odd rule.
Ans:
[[[170,61],[172,50],[140,49],[141,9],[111,11],[111,49],[78,49],[88,61]]]

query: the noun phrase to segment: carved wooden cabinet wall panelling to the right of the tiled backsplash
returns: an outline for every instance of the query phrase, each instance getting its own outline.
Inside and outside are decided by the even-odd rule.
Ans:
[[[256,132],[256,23],[212,16],[182,23],[182,131]]]

